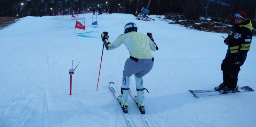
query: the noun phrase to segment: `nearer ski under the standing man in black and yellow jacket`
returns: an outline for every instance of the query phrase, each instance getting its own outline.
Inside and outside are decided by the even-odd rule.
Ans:
[[[250,92],[254,91],[250,87],[239,87],[237,91],[234,92],[229,92],[229,93],[238,93],[238,92]],[[220,95],[220,94],[229,94],[229,93],[221,93],[220,91],[212,91],[212,92],[203,92],[203,93],[193,93],[193,95],[197,98],[201,97],[209,97],[209,96],[215,96],[215,95]]]

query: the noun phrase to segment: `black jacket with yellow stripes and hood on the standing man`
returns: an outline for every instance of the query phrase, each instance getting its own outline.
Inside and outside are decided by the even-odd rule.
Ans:
[[[226,57],[233,61],[245,62],[253,37],[251,30],[253,30],[253,25],[249,19],[231,27],[227,37],[229,45]]]

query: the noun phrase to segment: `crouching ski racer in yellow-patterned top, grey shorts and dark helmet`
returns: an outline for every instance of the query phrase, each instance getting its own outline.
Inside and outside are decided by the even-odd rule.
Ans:
[[[113,43],[108,42],[109,36],[107,35],[107,32],[103,32],[101,38],[107,50],[113,50],[123,43],[131,55],[124,65],[121,96],[118,96],[121,106],[123,108],[128,107],[127,96],[130,85],[130,76],[134,74],[137,90],[137,96],[134,97],[134,100],[139,109],[144,109],[143,90],[147,89],[143,87],[142,77],[152,69],[154,64],[154,57],[150,50],[156,51],[158,50],[158,47],[154,42],[151,33],[145,35],[137,32],[137,29],[138,27],[136,24],[129,22],[124,27],[124,34],[120,35]]]

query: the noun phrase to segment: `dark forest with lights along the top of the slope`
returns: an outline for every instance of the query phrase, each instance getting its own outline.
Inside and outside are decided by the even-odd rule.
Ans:
[[[108,8],[114,13],[138,13],[147,8],[149,15],[181,13],[187,19],[198,19],[201,16],[212,18],[230,18],[235,12],[243,11],[247,17],[254,19],[255,0],[0,0],[0,16],[24,17],[42,15],[63,15],[77,11]]]

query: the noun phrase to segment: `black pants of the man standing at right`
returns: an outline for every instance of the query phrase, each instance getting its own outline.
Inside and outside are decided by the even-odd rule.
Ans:
[[[225,57],[221,64],[221,70],[223,71],[223,84],[230,89],[236,88],[238,81],[238,73],[240,71],[240,65],[234,65],[235,60]]]

